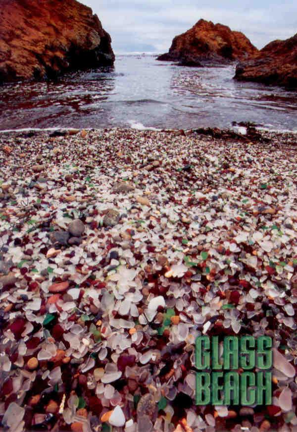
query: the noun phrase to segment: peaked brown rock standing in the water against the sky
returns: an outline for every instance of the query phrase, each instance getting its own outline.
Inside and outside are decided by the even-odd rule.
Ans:
[[[169,52],[157,59],[180,61],[182,65],[195,66],[203,62],[221,63],[244,59],[253,56],[257,51],[243,33],[200,19],[186,33],[176,36]]]

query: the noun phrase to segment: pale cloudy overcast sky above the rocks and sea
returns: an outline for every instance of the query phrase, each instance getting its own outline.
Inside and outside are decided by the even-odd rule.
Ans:
[[[297,33],[296,0],[82,0],[97,13],[115,53],[168,51],[200,18],[242,31],[257,47]]]

